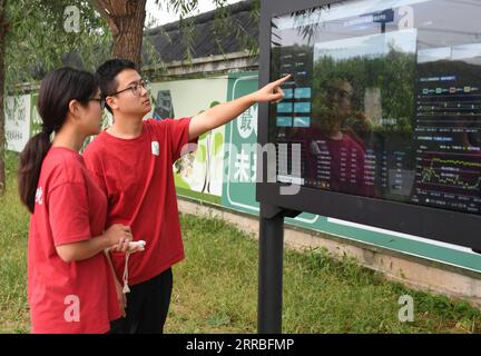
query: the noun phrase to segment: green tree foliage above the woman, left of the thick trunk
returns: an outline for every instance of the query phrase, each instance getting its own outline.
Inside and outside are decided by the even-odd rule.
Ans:
[[[76,7],[79,26],[66,27]],[[108,27],[85,0],[16,0],[8,2],[6,66],[8,91],[19,83],[37,82],[53,68],[66,62],[95,70],[110,56]],[[78,30],[78,31],[77,31]]]

